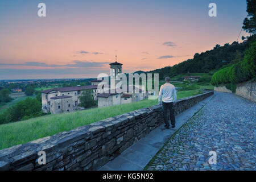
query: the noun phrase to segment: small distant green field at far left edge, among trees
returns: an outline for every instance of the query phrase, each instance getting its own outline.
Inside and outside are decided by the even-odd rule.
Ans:
[[[4,105],[1,105],[0,106],[0,114],[5,112],[9,107],[14,106],[15,104],[17,104],[19,101],[23,101],[28,97],[35,98],[36,96],[26,96],[24,94],[24,92],[22,92],[22,93],[12,93],[12,94],[10,94],[10,97],[13,98],[14,100],[12,100],[11,102],[7,102]]]

